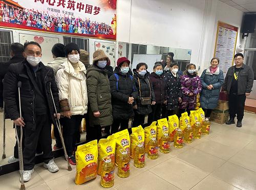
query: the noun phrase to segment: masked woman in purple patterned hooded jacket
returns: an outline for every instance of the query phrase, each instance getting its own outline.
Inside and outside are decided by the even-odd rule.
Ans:
[[[180,116],[185,111],[190,114],[190,110],[195,110],[197,95],[202,90],[200,77],[197,75],[196,65],[188,64],[184,75],[181,76],[181,103],[180,103]]]

